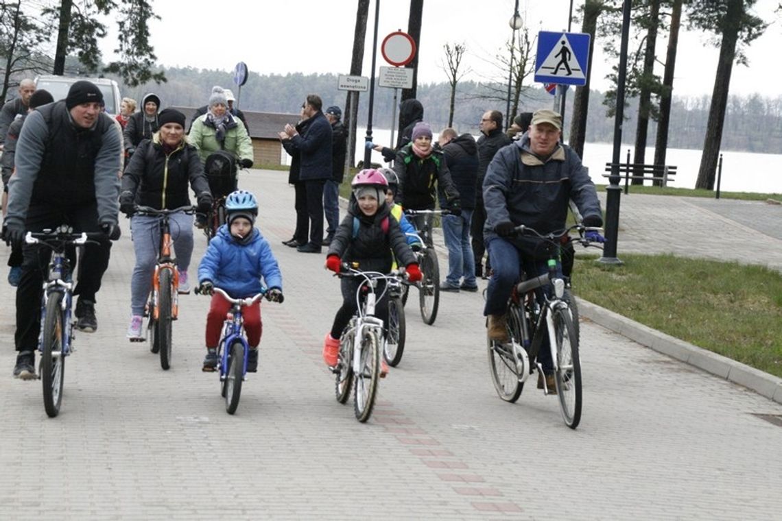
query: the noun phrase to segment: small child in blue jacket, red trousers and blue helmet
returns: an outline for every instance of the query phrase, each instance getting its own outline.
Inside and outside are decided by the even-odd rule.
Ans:
[[[249,191],[237,190],[225,200],[227,225],[217,230],[209,242],[198,268],[200,291],[212,294],[209,313],[206,316],[206,359],[203,371],[217,369],[217,344],[225,316],[231,304],[221,294],[213,294],[219,287],[232,298],[252,297],[261,290],[260,279],[268,288],[267,298],[282,302],[282,274],[269,243],[253,227],[258,215],[258,202]],[[243,310],[244,328],[247,332],[249,356],[247,371],[255,373],[258,367],[258,344],[262,326],[260,302]]]

